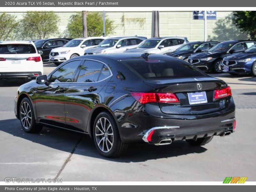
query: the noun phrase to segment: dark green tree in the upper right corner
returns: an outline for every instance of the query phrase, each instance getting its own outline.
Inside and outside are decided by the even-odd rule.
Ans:
[[[234,24],[251,39],[256,39],[256,11],[234,11]]]

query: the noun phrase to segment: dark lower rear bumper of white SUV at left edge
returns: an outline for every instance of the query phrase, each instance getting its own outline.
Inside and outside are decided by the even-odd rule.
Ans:
[[[36,78],[42,75],[41,71],[29,71],[29,72],[0,72],[0,79],[10,78]]]

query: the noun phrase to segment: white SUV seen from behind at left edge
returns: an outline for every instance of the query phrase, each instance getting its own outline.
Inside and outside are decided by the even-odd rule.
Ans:
[[[43,68],[32,41],[0,41],[0,79],[36,78]]]

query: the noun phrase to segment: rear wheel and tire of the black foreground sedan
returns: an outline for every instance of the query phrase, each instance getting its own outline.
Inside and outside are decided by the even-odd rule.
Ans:
[[[93,124],[93,140],[102,156],[115,158],[122,156],[128,145],[123,144],[114,118],[107,112],[101,112]]]

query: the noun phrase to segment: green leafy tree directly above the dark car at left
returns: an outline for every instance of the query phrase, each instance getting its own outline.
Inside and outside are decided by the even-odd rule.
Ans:
[[[31,11],[20,20],[22,39],[45,39],[59,35],[60,18],[54,12]]]

